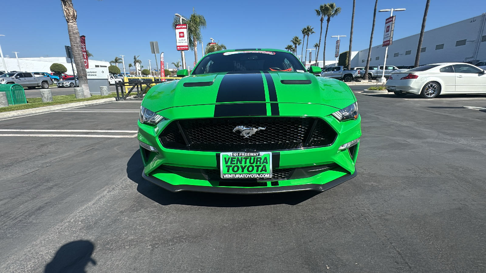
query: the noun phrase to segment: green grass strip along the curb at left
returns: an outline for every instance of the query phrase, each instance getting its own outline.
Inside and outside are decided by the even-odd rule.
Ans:
[[[76,99],[76,96],[74,94],[52,96],[53,102],[42,102],[40,98],[28,98],[26,104],[17,104],[17,105],[10,105],[8,107],[1,107],[0,113],[16,111],[16,110],[32,109],[32,108],[50,106],[50,105],[65,104],[71,102],[86,102],[86,101],[93,101],[93,100],[100,100],[100,99],[109,99],[114,97],[116,97],[116,93],[112,93],[107,96],[93,95],[90,98],[85,98],[85,99]]]

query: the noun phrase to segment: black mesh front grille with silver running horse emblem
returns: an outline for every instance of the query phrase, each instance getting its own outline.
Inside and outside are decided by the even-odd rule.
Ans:
[[[247,138],[237,126],[265,127]],[[160,134],[165,148],[191,151],[280,151],[331,145],[336,132],[317,118],[251,117],[175,120]]]

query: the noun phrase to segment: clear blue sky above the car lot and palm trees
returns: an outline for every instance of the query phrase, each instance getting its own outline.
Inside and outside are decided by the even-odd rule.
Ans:
[[[21,7],[19,4],[21,2]],[[192,8],[203,15],[208,27],[203,30],[203,42],[212,37],[236,48],[284,49],[301,29],[311,25],[316,34],[309,40],[309,48],[319,40],[320,22],[314,9],[329,1],[167,1],[167,0],[73,0],[78,12],[78,28],[86,35],[87,49],[94,60],[110,61],[125,55],[125,67],[140,55],[142,65],[148,67],[148,59],[155,68],[155,56],[150,52],[150,41],[158,41],[165,61],[180,59],[175,48],[175,33],[171,23],[175,13],[190,16]],[[331,18],[326,60],[334,59],[335,39],[331,35],[347,35],[341,40],[341,51],[349,47],[352,0],[335,0],[342,12]],[[373,20],[374,0],[357,0],[353,35],[353,51],[369,45]],[[378,9],[406,8],[397,12],[394,39],[420,32],[425,0],[379,0]],[[64,56],[64,46],[69,45],[66,20],[59,0],[3,1],[0,25],[0,45],[4,55],[19,57]],[[12,12],[5,12],[12,11]],[[431,0],[426,30],[451,24],[486,12],[485,0]],[[384,20],[389,13],[377,13],[373,45],[382,41]],[[323,25],[323,39],[326,22]],[[319,60],[322,60],[322,47]],[[298,52],[300,52],[299,47]],[[202,48],[198,46],[198,57]],[[304,45],[305,51],[305,45]],[[314,56],[315,52],[312,52]],[[300,53],[298,54],[300,55]],[[193,67],[194,53],[186,51],[187,65]],[[173,66],[170,65],[170,68]]]

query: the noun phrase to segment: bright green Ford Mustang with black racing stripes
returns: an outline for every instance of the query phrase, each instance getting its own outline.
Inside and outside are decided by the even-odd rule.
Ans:
[[[142,176],[170,191],[324,191],[356,175],[361,117],[338,80],[288,51],[209,53],[142,101]]]

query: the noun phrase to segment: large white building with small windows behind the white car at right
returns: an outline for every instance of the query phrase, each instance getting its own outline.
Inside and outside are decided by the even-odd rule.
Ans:
[[[426,31],[420,50],[420,65],[444,62],[475,64],[486,60],[486,13],[450,25]],[[374,39],[381,40],[382,31],[377,25]],[[388,47],[386,64],[413,66],[417,54],[419,34],[393,40]],[[353,56],[354,55],[354,56]],[[371,49],[370,66],[383,65],[385,47]],[[364,67],[368,49],[353,51],[351,67]]]

